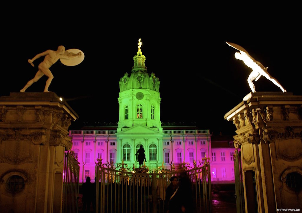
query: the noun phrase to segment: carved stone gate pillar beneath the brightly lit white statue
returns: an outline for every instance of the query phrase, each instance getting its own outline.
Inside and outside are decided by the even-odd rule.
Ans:
[[[225,116],[241,148],[246,213],[302,208],[302,96],[249,93]]]

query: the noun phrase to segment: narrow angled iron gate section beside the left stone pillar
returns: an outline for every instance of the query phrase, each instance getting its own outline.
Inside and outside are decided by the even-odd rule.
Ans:
[[[78,212],[80,166],[74,152],[65,153],[62,213]]]

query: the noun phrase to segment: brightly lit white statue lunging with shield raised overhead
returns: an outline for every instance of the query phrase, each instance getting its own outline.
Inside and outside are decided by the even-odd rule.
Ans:
[[[246,66],[252,68],[252,73],[249,74],[249,77],[247,79],[247,82],[249,83],[249,87],[251,88],[252,92],[256,92],[255,85],[253,84],[253,80],[257,81],[261,76],[264,76],[271,82],[273,82],[276,86],[278,86],[282,92],[286,92],[284,87],[281,86],[281,84],[277,81],[277,79],[273,78],[268,72],[267,67],[264,67],[262,63],[259,61],[256,61],[252,56],[249,55],[249,53],[238,44],[226,42],[231,47],[235,48],[236,50],[239,50],[240,52],[235,53],[235,58],[242,60]]]

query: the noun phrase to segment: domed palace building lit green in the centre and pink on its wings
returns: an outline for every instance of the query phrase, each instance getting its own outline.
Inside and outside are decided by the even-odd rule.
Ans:
[[[195,126],[164,125],[160,121],[159,78],[148,73],[146,57],[139,49],[133,57],[131,73],[120,78],[119,121],[117,126],[83,127],[70,130],[73,147],[80,163],[80,182],[95,177],[95,163],[124,163],[137,168],[137,150],[143,146],[146,166],[170,169],[175,163],[193,167],[210,157],[213,181],[234,180],[233,139],[211,141],[210,130]],[[221,147],[219,144],[223,144]]]

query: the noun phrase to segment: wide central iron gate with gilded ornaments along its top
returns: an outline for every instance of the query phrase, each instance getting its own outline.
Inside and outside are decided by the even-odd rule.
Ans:
[[[186,163],[181,165],[185,166]],[[149,173],[146,166],[130,170],[121,163],[119,170],[108,164],[96,166],[96,212],[109,213],[164,213],[165,190],[172,176],[184,174],[191,180],[193,212],[212,212],[210,164],[177,171],[159,169]],[[148,172],[148,173],[147,173]]]

